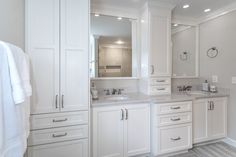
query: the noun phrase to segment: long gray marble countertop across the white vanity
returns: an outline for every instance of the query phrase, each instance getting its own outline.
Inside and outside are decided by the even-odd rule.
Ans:
[[[111,106],[111,105],[127,105],[137,103],[167,103],[179,101],[193,101],[196,99],[214,98],[214,97],[228,97],[228,93],[209,93],[201,91],[193,91],[190,93],[172,93],[171,95],[151,96],[142,93],[128,93],[122,96],[127,97],[124,100],[110,100],[109,96],[99,96],[98,100],[93,100],[91,107]],[[194,94],[195,93],[195,94]],[[200,93],[200,94],[199,94]],[[201,94],[202,93],[202,94]]]

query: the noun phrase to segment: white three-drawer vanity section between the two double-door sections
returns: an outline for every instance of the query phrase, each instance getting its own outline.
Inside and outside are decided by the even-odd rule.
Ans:
[[[151,105],[152,156],[192,148],[192,102]]]

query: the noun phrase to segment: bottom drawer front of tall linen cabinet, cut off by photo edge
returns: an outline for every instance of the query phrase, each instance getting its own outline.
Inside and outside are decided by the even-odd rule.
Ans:
[[[33,146],[28,148],[28,157],[88,157],[88,140],[76,140]]]

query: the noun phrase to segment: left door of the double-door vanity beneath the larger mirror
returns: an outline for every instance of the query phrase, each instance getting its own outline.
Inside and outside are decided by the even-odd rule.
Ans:
[[[93,109],[93,157],[123,157],[122,117],[121,107]]]

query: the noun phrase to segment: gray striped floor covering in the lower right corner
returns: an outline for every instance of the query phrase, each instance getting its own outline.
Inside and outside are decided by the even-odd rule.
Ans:
[[[196,146],[188,153],[171,157],[236,157],[236,148],[224,142]]]

